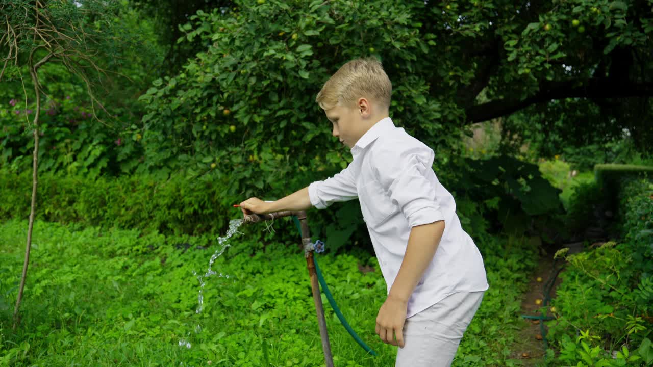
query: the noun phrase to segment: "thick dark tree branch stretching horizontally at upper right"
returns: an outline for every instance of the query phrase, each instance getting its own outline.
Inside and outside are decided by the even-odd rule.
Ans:
[[[620,82],[610,78],[543,82],[539,92],[523,100],[500,99],[466,109],[467,122],[476,123],[512,114],[531,104],[566,98],[603,99],[653,97],[653,83]]]

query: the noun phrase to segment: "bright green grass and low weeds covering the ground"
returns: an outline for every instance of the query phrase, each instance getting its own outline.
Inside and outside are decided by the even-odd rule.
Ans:
[[[232,238],[214,264],[229,278],[208,279],[204,311],[196,314],[193,271],[206,272],[215,238],[37,221],[22,324],[14,333],[27,223],[0,223],[0,365],[323,366],[306,261],[296,244],[247,240],[260,230],[244,228],[245,236]],[[525,242],[494,237],[479,247],[490,290],[454,366],[515,365],[508,345],[517,338],[520,295],[535,252]],[[335,364],[394,365],[396,347],[374,333],[386,295],[375,258],[353,251],[318,259],[345,317],[379,354],[366,355],[323,299]],[[358,264],[374,271],[363,274]],[[181,338],[192,347],[180,347]]]

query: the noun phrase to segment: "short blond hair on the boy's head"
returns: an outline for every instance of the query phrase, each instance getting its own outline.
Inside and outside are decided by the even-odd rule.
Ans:
[[[342,65],[317,93],[315,102],[324,110],[341,106],[351,106],[360,97],[371,99],[379,106],[390,107],[392,83],[377,59],[351,60]]]

